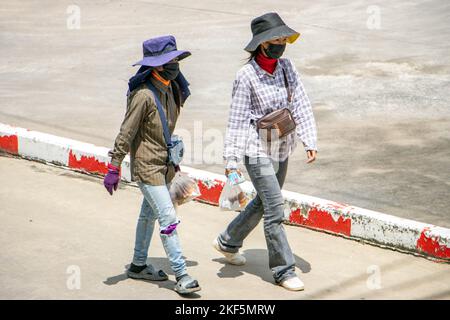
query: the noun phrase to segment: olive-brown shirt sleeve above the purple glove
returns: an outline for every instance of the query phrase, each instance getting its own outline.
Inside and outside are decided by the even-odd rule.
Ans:
[[[142,91],[137,92],[128,103],[127,111],[114,142],[111,164],[120,167],[123,158],[130,151],[130,145],[149,110],[149,98]]]

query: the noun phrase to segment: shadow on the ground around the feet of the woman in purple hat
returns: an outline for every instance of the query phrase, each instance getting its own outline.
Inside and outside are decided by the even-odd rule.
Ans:
[[[184,257],[186,259],[186,257]],[[168,275],[172,275],[174,276],[174,273],[172,271],[172,268],[170,268],[170,264],[169,264],[169,260],[167,258],[164,257],[155,257],[155,258],[149,258],[147,259],[147,264],[152,264],[156,270],[162,269],[164,270],[165,273],[167,273]],[[186,266],[187,267],[193,267],[198,265],[197,261],[192,261],[192,260],[187,260],[186,259]],[[130,265],[125,265],[125,270],[123,271],[123,273],[118,274],[116,276],[112,276],[107,278],[105,281],[103,281],[104,284],[108,285],[108,286],[112,286],[112,285],[116,285],[119,282],[125,281],[125,280],[130,280],[130,281],[144,281],[144,282],[148,282],[150,284],[154,284],[157,285],[158,288],[163,288],[163,289],[168,289],[173,291],[173,287],[175,286],[175,281],[173,280],[166,280],[166,281],[150,281],[150,280],[135,280],[135,279],[131,279],[128,278],[127,276],[127,270],[130,267]],[[191,293],[189,295],[183,295],[182,297],[184,298],[189,298],[189,299],[195,299],[195,298],[200,298],[201,296],[197,293]]]

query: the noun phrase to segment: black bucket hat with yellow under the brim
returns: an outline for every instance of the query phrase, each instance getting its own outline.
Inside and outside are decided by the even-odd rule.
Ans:
[[[255,51],[265,41],[288,37],[287,42],[293,43],[300,36],[300,33],[289,28],[276,12],[269,12],[253,19],[251,28],[253,39],[245,47],[248,52]]]

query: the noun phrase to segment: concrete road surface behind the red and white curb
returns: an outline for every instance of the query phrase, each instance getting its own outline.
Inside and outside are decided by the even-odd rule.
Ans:
[[[291,157],[285,188],[450,227],[448,1],[73,4],[2,3],[1,122],[111,147],[142,41],[170,33],[193,53],[182,66],[193,95],[177,129],[186,161],[221,173],[250,21],[277,11],[302,33],[285,55],[313,102],[320,149],[314,165],[301,150]]]

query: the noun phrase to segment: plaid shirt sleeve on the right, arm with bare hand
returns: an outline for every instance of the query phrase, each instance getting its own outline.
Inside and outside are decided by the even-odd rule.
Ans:
[[[292,111],[297,123],[296,134],[303,142],[305,150],[317,151],[317,127],[311,102],[294,64],[289,61],[294,89],[292,96]]]

